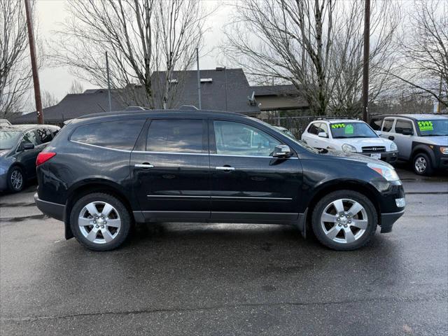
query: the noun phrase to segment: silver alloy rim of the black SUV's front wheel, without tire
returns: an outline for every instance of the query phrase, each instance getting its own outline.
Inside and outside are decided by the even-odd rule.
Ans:
[[[349,199],[331,202],[321,215],[323,233],[328,239],[342,244],[360,239],[367,230],[367,223],[364,207]]]

